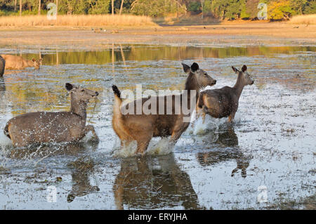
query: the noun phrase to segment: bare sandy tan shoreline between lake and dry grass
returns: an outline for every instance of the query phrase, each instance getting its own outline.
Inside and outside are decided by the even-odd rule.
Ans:
[[[0,27],[0,46],[9,48],[105,49],[112,44],[316,46],[316,25],[260,22],[166,27]]]

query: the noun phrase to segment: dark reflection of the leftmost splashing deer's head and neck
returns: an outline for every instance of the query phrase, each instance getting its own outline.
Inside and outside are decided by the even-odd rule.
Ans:
[[[98,186],[90,184],[89,176],[94,171],[94,162],[91,158],[81,157],[68,166],[72,168],[72,191],[67,196],[67,202],[100,190]]]

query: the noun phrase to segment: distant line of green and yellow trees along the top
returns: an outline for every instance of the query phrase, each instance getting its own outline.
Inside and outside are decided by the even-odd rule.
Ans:
[[[316,0],[1,0],[0,15],[44,14],[58,1],[58,14],[131,13],[151,17],[202,15],[220,20],[256,20],[259,3],[267,4],[270,20],[316,13]]]

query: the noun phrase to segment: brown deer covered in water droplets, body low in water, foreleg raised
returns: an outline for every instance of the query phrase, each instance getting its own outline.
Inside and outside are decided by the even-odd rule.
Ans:
[[[76,142],[88,131],[98,141],[93,126],[86,126],[86,107],[98,92],[81,86],[66,84],[71,95],[70,112],[31,112],[13,117],[4,128],[13,145],[25,147],[39,143]]]

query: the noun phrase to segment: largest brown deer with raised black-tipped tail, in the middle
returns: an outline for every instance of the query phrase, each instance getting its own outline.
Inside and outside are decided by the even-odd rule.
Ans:
[[[136,110],[134,110],[133,114],[122,114],[121,92],[117,86],[112,86],[114,91],[112,126],[117,136],[121,139],[121,145],[129,144],[131,141],[136,140],[136,153],[144,154],[152,137],[171,136],[170,143],[176,143],[181,134],[187,129],[190,121],[186,122],[183,120],[184,117],[187,116],[187,114],[183,112],[183,104],[188,104],[190,111],[194,110],[195,106],[191,108],[190,104],[194,101],[196,105],[199,89],[204,86],[215,85],[216,80],[212,79],[204,70],[199,69],[197,63],[193,63],[191,67],[185,64],[182,65],[183,70],[188,73],[188,76],[185,81],[185,91],[180,96],[177,96],[180,97],[180,103],[175,103],[176,95],[165,95],[141,98],[126,105],[126,108],[136,108],[137,105],[140,104],[143,108],[147,100],[152,100],[152,102],[157,103],[157,105],[155,105],[157,108],[155,114],[145,114],[143,110],[140,114],[137,114]],[[167,100],[167,98],[172,98],[172,103],[169,103],[171,100]],[[160,105],[159,102],[164,103]],[[159,106],[163,108],[159,110]],[[170,111],[170,109],[172,109],[172,112],[166,114],[166,111]],[[164,113],[161,114],[161,111]],[[176,111],[180,111],[180,113],[177,114]],[[190,115],[191,114],[192,113],[190,113]]]

